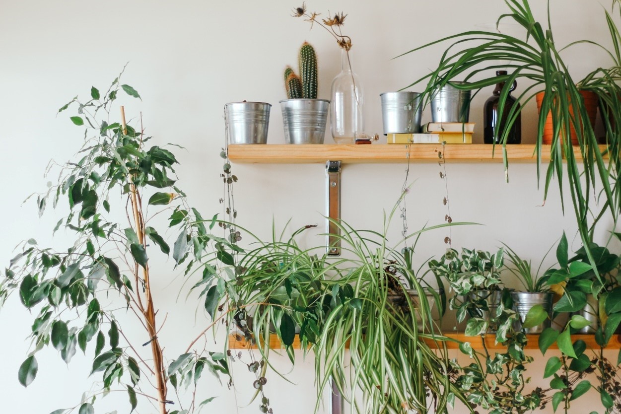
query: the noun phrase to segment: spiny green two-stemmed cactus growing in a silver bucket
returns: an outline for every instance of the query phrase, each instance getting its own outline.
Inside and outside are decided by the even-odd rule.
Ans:
[[[291,66],[284,70],[284,87],[289,99],[317,99],[317,55],[308,42],[302,43],[299,52],[298,76]]]

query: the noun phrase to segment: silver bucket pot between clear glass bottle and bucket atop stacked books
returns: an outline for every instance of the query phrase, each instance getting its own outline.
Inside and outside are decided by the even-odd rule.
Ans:
[[[422,106],[418,92],[385,92],[382,101],[384,135],[420,132]]]

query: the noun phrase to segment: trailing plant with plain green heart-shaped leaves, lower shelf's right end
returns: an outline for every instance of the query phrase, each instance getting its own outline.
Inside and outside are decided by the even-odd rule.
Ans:
[[[614,235],[621,236],[616,233]],[[544,330],[538,342],[543,354],[554,343],[563,353],[561,358],[552,356],[546,361],[544,377],[550,378],[550,388],[555,390],[552,395],[553,408],[556,410],[563,407],[566,413],[570,412],[571,402],[590,389],[595,389],[599,393],[606,413],[617,412],[615,410],[619,409],[617,398],[619,392],[615,382],[619,382],[617,372],[621,363],[621,353],[615,367],[604,358],[601,350],[595,353],[593,358],[589,358],[586,343],[582,340],[572,341],[571,338],[576,330],[591,325],[591,322],[579,313],[573,313],[587,307],[588,295],[592,295],[597,303],[589,312],[597,315],[599,320],[595,332],[595,340],[599,346],[603,348],[610,341],[621,322],[619,305],[621,257],[596,243],[591,243],[589,251],[599,274],[593,271],[584,246],[579,248],[573,257],[569,257],[568,241],[563,234],[556,248],[556,258],[560,267],[546,272],[548,283],[560,287],[563,294],[555,304],[555,313],[571,314],[568,322],[560,330],[554,328]],[[589,372],[597,373],[599,384],[594,383],[592,379],[584,378]],[[581,381],[578,382],[578,379]]]

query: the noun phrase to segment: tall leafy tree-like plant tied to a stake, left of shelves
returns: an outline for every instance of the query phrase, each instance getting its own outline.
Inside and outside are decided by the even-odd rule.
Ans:
[[[229,374],[225,354],[207,351],[204,335],[217,323],[239,248],[234,240],[209,234],[215,216],[206,222],[188,205],[176,182],[175,155],[153,145],[142,128],[125,125],[122,112],[112,114],[121,91],[140,98],[117,78],[105,93],[93,87],[87,101],[75,97],[58,111],[77,107],[70,119],[84,127],[84,145],[75,161],[59,166],[59,182],[39,194],[37,205],[40,215],[48,204],[66,206],[54,232],[64,228],[73,241],[58,250],[34,239],[21,243],[0,281],[0,304],[14,294],[34,315],[32,348],[19,368],[22,385],[35,380],[37,354],[48,347],[67,363],[79,349],[93,360],[91,375],[101,376],[100,390],[54,414],[94,413],[96,398],[111,390],[127,392],[128,412],[142,396],[160,414],[191,413],[212,398],[202,403],[191,398],[184,407],[170,387],[196,389],[206,369],[215,376]],[[112,122],[117,116],[120,120]],[[172,236],[172,246],[165,235]],[[172,256],[170,268],[158,255]],[[200,290],[212,322],[188,338],[185,353],[171,358],[163,352],[165,318],[154,296],[158,281],[169,281],[174,272],[196,278],[191,289]],[[129,334],[135,326],[140,335]]]

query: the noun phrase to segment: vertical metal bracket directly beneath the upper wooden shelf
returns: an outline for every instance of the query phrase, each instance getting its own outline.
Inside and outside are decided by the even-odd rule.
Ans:
[[[326,178],[326,249],[330,256],[340,256],[341,240],[338,224],[341,220],[341,161],[325,164]]]

